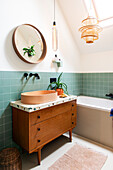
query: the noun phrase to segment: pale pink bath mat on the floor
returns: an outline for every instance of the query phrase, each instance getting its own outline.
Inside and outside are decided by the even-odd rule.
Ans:
[[[75,144],[48,170],[101,170],[107,156]]]

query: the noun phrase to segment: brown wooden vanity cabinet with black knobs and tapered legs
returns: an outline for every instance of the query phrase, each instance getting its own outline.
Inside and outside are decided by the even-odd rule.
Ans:
[[[72,141],[72,129],[76,126],[77,118],[76,100],[34,112],[14,107],[12,110],[13,140],[29,153],[38,152],[38,164],[45,144],[67,131]]]

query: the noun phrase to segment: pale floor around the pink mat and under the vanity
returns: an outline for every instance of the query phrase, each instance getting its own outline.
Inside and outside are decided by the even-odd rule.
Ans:
[[[41,165],[37,165],[37,154],[31,155],[24,153],[22,155],[22,170],[47,170],[58,158],[68,151],[75,142],[92,148],[108,156],[102,170],[113,170],[113,149],[107,148],[101,144],[95,143],[83,137],[73,134],[73,142],[69,142],[68,135],[61,136],[42,149]]]

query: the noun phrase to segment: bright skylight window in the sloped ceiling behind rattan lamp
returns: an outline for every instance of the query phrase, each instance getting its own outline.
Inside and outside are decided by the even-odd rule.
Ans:
[[[113,25],[113,0],[84,0],[88,12],[100,21],[100,26]]]

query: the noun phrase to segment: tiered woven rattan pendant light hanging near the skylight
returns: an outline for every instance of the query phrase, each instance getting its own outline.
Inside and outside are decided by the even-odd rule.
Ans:
[[[86,19],[82,21],[82,27],[79,28],[81,32],[81,38],[83,38],[86,43],[93,43],[95,40],[99,39],[99,33],[102,28],[98,25],[99,21],[97,18],[91,16],[91,0],[90,0],[90,10],[89,15]]]

